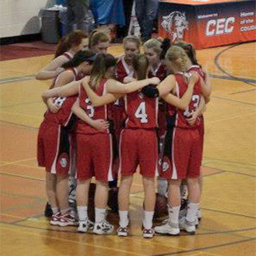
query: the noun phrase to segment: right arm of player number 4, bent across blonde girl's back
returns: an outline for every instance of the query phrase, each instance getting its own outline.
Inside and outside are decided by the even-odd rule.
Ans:
[[[172,83],[174,83],[174,86],[176,84],[176,79],[173,76],[174,80],[172,80]],[[173,94],[167,94],[162,96],[162,99],[165,100],[170,105],[175,106],[176,108],[180,108],[182,110],[186,110],[186,108],[189,106],[189,102],[192,98],[192,94],[194,91],[195,83],[197,83],[198,76],[195,72],[192,73],[191,77],[189,78],[189,85],[187,86],[187,91],[184,93],[184,95],[181,98],[178,98],[174,96]],[[173,84],[171,85],[173,86]],[[173,87],[174,87],[173,86]]]

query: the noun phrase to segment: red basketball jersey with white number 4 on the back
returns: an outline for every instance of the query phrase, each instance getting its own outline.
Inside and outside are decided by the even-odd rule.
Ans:
[[[135,91],[124,97],[124,107],[127,113],[126,128],[158,127],[158,98],[151,99],[145,97],[140,91]]]

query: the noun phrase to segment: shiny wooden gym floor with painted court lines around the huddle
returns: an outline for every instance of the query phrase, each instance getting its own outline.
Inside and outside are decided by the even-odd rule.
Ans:
[[[34,74],[52,55],[1,61],[1,255],[255,255],[255,42],[198,50],[213,92],[205,114],[203,218],[195,236],[142,238],[143,187],[135,177],[132,234],[96,236],[51,227],[43,217],[45,171],[37,167],[37,130],[50,81]],[[110,53],[122,53],[121,45]],[[117,217],[110,215],[117,224]]]

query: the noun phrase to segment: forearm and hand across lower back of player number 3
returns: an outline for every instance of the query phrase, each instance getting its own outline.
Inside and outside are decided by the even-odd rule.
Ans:
[[[103,132],[105,129],[108,129],[109,127],[108,121],[105,121],[103,119],[91,119],[87,115],[86,111],[83,110],[83,108],[80,108],[79,99],[77,99],[74,105],[72,106],[72,112],[75,113],[75,116],[78,116],[78,118],[86,122],[86,124],[89,124],[91,127],[94,127],[100,132]]]

